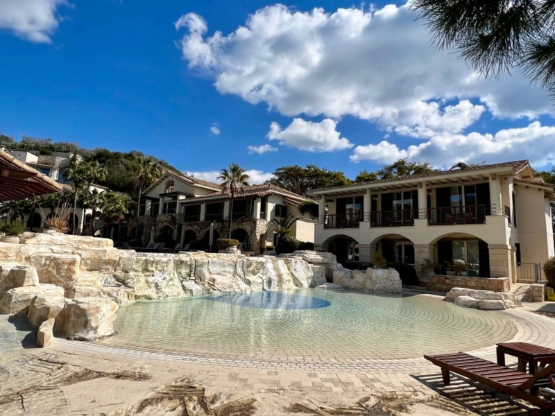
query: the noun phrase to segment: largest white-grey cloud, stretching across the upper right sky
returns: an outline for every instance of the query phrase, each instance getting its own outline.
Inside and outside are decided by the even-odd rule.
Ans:
[[[547,92],[518,72],[479,78],[456,54],[431,45],[425,22],[415,18],[406,5],[332,13],[275,5],[228,35],[205,37],[207,24],[194,14],[176,27],[189,30],[180,43],[183,58],[212,74],[219,92],[287,116],[351,115],[431,137],[460,132],[479,118],[484,106],[466,99],[495,116],[552,110]]]

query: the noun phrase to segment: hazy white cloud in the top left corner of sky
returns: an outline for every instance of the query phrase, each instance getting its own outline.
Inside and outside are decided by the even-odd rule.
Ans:
[[[31,42],[51,43],[50,36],[58,28],[56,10],[60,5],[68,3],[65,0],[1,0],[0,29]]]

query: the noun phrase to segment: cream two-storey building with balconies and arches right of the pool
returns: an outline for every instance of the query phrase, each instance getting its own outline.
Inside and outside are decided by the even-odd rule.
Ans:
[[[526,160],[321,189],[311,193],[315,250],[359,262],[381,250],[443,272],[463,263],[468,276],[537,280],[538,263],[555,254],[554,191]]]

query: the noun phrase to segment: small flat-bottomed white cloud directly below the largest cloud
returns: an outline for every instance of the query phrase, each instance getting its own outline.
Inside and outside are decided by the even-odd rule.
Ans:
[[[332,119],[314,123],[296,118],[284,129],[278,123],[271,123],[267,137],[278,140],[281,145],[307,152],[332,152],[352,148],[353,144],[341,137],[336,126],[336,121]]]

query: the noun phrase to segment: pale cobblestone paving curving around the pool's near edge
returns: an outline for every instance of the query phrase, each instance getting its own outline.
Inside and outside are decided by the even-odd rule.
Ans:
[[[486,312],[487,313],[487,312]],[[498,313],[498,312],[496,312]],[[506,341],[523,341],[555,347],[555,320],[518,309],[500,312],[512,322],[515,332]],[[428,340],[427,352],[441,349],[441,340]],[[191,382],[234,390],[300,390],[305,392],[410,392],[415,397],[434,392],[414,376],[438,374],[438,367],[420,356],[408,359],[350,357],[348,352],[321,358],[307,351],[302,356],[242,356],[242,351],[216,354],[204,349],[191,354],[118,347],[105,343],[79,343],[56,339],[52,351],[83,359],[118,362],[142,361],[150,365],[172,365],[185,372]],[[466,349],[495,361],[495,343]],[[508,363],[511,361],[508,358]]]

